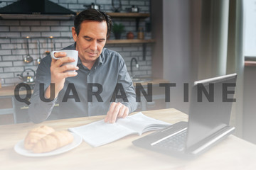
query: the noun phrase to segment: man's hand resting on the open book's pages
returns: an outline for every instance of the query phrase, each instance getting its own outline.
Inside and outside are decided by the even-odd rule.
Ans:
[[[107,112],[105,122],[115,123],[117,118],[125,118],[129,114],[129,108],[122,103],[111,103],[110,110]]]

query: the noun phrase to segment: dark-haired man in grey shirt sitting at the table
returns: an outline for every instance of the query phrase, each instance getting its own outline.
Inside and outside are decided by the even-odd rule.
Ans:
[[[36,85],[28,109],[31,120],[34,123],[46,120],[57,101],[59,118],[106,113],[105,122],[108,123],[125,118],[137,108],[136,95],[121,55],[104,47],[112,26],[110,16],[89,9],[76,16],[74,25],[75,43],[63,50],[78,50],[78,65],[63,66],[65,62],[74,62],[65,52],[55,53],[59,60],[50,56],[43,58],[37,69]],[[74,69],[76,72],[65,72]],[[42,84],[47,102],[40,96]],[[50,100],[52,91],[55,94]],[[113,102],[114,96],[122,102]]]

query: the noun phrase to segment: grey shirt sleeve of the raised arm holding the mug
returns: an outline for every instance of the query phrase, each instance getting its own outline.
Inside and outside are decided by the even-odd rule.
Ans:
[[[36,84],[31,96],[31,104],[28,107],[28,115],[33,123],[41,123],[48,118],[53,107],[57,101],[55,98],[53,101],[44,102],[40,98],[40,84],[43,85],[43,90],[45,91],[50,85],[50,64],[47,57],[44,58],[38,65],[36,71]]]

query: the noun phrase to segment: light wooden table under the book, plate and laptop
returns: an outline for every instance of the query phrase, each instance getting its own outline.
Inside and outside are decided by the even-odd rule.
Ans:
[[[145,115],[169,123],[187,120],[187,115],[176,109],[144,111]],[[55,130],[85,125],[105,116],[50,120],[41,124],[23,123],[0,126],[0,169],[256,169],[256,146],[230,135],[210,151],[192,160],[178,159],[165,154],[135,147],[132,141],[141,136],[129,135],[102,147],[92,148],[86,142],[52,157],[23,157],[16,154],[14,145],[28,130],[49,125]],[[149,132],[144,135],[149,134]]]

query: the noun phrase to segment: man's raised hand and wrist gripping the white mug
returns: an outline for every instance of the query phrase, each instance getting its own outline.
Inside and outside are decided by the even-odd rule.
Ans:
[[[78,70],[77,66],[71,64],[63,65],[66,62],[75,62],[75,59],[72,57],[67,57],[66,52],[56,52],[55,57],[60,57],[59,60],[52,59],[50,65],[50,79],[51,83],[55,84],[55,98],[58,96],[58,93],[63,89],[65,78],[75,77],[78,75],[77,72],[66,72],[68,70]],[[50,98],[50,86],[46,89],[46,98]]]

